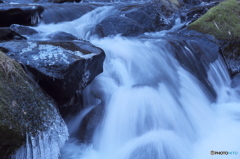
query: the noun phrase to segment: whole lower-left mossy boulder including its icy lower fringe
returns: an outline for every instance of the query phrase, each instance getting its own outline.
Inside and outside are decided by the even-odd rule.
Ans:
[[[1,158],[13,153],[17,155],[21,147],[22,154],[26,151],[45,152],[57,159],[67,135],[66,125],[53,100],[18,63],[0,52]],[[37,156],[47,158],[44,154]]]

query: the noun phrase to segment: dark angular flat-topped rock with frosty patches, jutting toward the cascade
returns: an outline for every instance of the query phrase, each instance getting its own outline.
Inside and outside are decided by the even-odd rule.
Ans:
[[[81,103],[81,91],[103,71],[103,50],[88,42],[6,42],[0,46],[26,66],[60,107]]]

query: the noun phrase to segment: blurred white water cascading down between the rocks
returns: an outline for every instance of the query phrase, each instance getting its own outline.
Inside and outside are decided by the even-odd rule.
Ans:
[[[72,22],[37,28],[44,33],[73,33],[106,53],[104,72],[85,90],[92,93],[87,96],[101,100],[104,116],[91,143],[71,139],[60,158],[240,158],[240,96],[230,86],[223,60],[219,57],[207,71],[217,93],[212,102],[201,81],[165,47],[165,40],[91,37],[91,27],[113,11],[100,7]],[[210,155],[212,150],[238,154]]]

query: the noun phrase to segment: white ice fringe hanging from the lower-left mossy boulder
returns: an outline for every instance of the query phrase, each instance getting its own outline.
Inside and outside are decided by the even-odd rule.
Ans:
[[[68,130],[60,116],[53,118],[47,131],[26,133],[26,145],[11,156],[11,159],[58,159],[60,149],[68,139]]]

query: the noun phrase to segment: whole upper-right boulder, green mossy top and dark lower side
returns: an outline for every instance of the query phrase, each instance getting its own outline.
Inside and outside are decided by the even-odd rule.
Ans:
[[[218,39],[222,55],[231,75],[240,72],[240,4],[237,0],[226,0],[211,8],[188,28]]]

